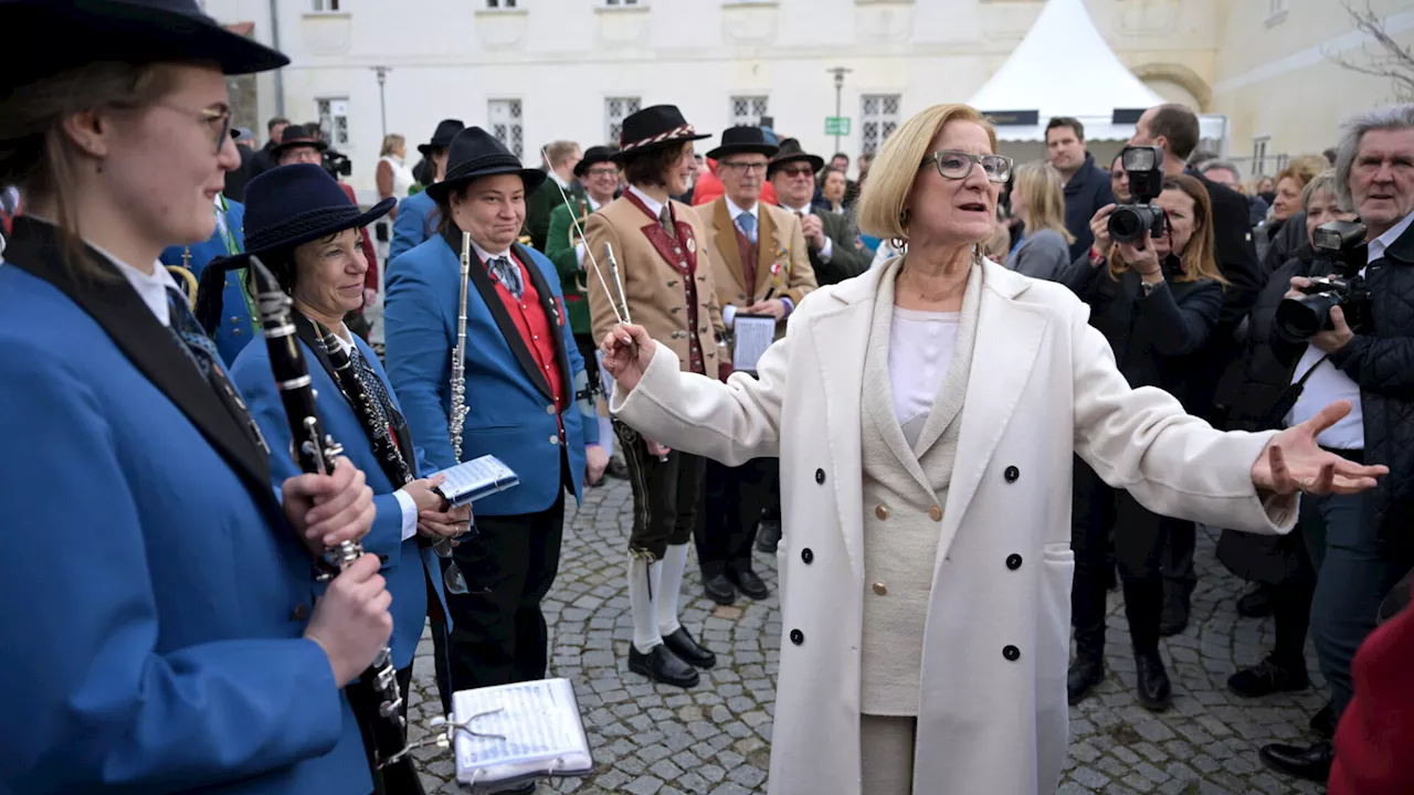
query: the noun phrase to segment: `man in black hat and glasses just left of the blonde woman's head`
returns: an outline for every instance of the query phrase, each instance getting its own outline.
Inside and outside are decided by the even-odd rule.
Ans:
[[[766,178],[776,188],[781,209],[800,219],[800,231],[810,249],[810,266],[822,287],[864,273],[871,262],[854,248],[855,232],[844,215],[819,212],[810,204],[814,197],[814,173],[823,167],[824,158],[806,154],[796,139],[781,141],[781,151],[766,167]]]

